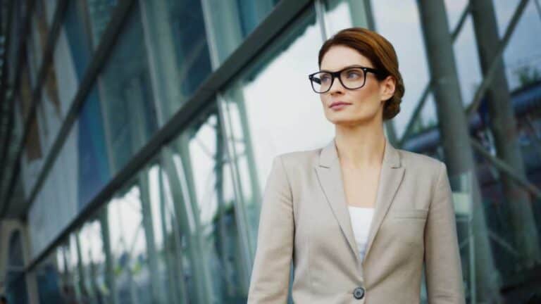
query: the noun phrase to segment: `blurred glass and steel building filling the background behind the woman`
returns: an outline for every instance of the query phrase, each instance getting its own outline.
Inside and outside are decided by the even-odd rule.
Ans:
[[[2,2],[0,292],[13,303],[245,303],[270,160],[332,138],[306,77],[319,46],[375,26],[407,92],[387,137],[444,159],[453,180],[477,173],[485,208],[475,255],[461,251],[468,303],[524,300],[540,286],[540,85],[486,50],[507,37],[499,27],[514,37],[505,63],[534,58],[540,42],[524,37],[541,24],[533,3],[494,2]],[[494,8],[499,19],[475,13]],[[442,77],[456,82],[430,82]],[[491,125],[502,117],[516,120],[505,134]]]

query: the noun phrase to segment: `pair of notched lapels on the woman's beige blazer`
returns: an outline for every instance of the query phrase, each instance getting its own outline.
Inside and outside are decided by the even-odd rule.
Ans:
[[[387,210],[389,210],[394,194],[396,194],[402,182],[404,166],[401,162],[400,153],[390,144],[387,137],[385,137],[385,149],[375,200],[375,210],[370,231],[368,232],[365,258],[361,262],[349,217],[344,183],[342,181],[342,168],[340,167],[340,159],[338,158],[335,140],[333,138],[329,144],[322,148],[319,163],[316,165],[316,172],[325,198],[332,209],[332,213],[334,213],[338,224],[340,224],[340,229],[342,229],[342,233],[349,243],[349,247],[356,256],[357,265],[361,266],[364,260],[368,258],[374,238],[378,234],[378,229],[387,214]],[[362,272],[362,267],[359,270]]]

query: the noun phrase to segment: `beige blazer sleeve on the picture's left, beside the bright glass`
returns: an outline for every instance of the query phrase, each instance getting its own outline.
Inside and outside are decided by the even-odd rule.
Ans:
[[[287,303],[294,239],[292,204],[285,167],[276,156],[263,191],[249,304]]]

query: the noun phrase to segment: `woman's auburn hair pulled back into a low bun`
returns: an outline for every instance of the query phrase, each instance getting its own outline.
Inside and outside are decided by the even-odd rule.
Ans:
[[[397,53],[392,44],[377,32],[363,27],[349,27],[340,30],[332,35],[319,50],[318,65],[321,68],[321,61],[331,46],[342,45],[355,49],[361,55],[368,58],[374,68],[380,70],[378,80],[384,80],[392,76],[396,82],[394,95],[385,101],[383,106],[383,120],[390,120],[400,112],[400,103],[404,96],[404,81],[398,70]]]

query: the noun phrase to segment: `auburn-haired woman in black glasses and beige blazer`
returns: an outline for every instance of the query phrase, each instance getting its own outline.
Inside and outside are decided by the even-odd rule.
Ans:
[[[394,148],[383,121],[404,84],[390,42],[359,27],[321,47],[321,94],[335,138],[277,156],[263,194],[248,303],[464,303],[447,167]]]

